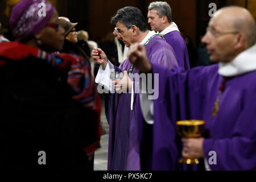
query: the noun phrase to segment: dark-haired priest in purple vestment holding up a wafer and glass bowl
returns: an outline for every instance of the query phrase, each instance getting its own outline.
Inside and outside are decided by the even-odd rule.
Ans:
[[[139,43],[146,48],[146,54],[151,63],[166,68],[177,65],[172,47],[154,31],[148,31],[146,20],[139,9],[124,7],[118,10],[112,18],[112,23],[117,27],[127,47],[133,43]],[[99,48],[92,51],[92,57],[101,64],[96,82],[110,92],[104,91],[105,112],[110,129],[108,170],[140,170],[138,134],[141,131],[139,131],[137,123],[139,80],[131,78],[139,71],[128,59],[123,61],[119,67],[115,67]],[[113,83],[110,80],[111,70],[123,72],[123,78],[115,80]],[[99,92],[102,93],[102,90]]]

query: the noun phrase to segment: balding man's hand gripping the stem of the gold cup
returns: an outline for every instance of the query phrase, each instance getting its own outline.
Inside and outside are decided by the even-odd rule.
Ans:
[[[204,138],[182,138],[184,158],[204,158],[203,142]]]

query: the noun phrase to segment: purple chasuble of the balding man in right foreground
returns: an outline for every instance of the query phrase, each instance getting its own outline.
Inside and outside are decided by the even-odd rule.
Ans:
[[[197,67],[184,72],[153,64],[159,73],[159,98],[154,101],[152,170],[180,169],[180,141],[176,121],[205,121],[204,155],[216,152],[212,170],[256,169],[256,71],[228,77],[220,98],[220,109],[212,118],[222,76],[218,65]],[[141,117],[138,115],[138,117]],[[177,149],[179,148],[179,149]]]

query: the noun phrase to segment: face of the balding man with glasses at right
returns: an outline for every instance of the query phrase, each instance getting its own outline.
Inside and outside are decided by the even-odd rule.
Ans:
[[[207,44],[210,60],[214,62],[228,63],[236,55],[234,48],[237,40],[237,31],[234,30],[232,22],[221,11],[217,11],[210,19],[207,32],[201,39]]]

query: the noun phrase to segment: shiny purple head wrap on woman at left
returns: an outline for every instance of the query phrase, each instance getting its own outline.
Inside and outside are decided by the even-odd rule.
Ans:
[[[44,7],[46,11],[42,14]],[[13,35],[19,42],[33,38],[46,26],[54,10],[55,7],[46,0],[19,1],[11,11],[10,26]]]

